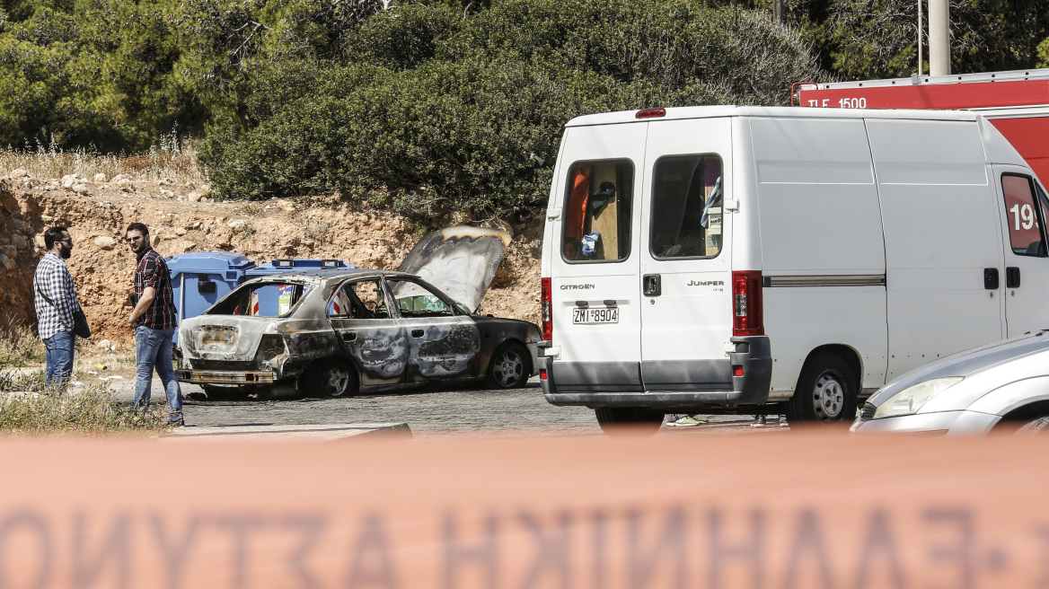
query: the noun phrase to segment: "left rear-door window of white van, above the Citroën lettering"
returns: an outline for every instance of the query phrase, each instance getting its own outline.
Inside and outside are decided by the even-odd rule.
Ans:
[[[569,169],[561,257],[568,262],[625,260],[630,255],[634,165],[577,161]]]

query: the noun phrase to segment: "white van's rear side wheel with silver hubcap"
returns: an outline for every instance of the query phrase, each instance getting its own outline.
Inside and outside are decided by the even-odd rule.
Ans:
[[[805,363],[794,396],[787,401],[787,421],[835,423],[856,413],[856,375],[841,356],[820,352]]]

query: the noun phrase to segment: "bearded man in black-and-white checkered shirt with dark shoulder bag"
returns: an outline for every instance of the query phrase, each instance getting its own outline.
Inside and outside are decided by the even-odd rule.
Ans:
[[[72,313],[80,310],[72,277],[65,261],[72,256],[72,238],[65,227],[44,232],[47,253],[33,278],[33,303],[37,308],[37,331],[47,348],[44,380],[61,394],[72,376],[72,353],[77,343]]]

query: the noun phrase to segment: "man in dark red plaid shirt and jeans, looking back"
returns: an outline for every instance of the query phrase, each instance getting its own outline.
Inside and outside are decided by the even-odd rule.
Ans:
[[[149,407],[153,369],[164,383],[164,391],[171,406],[171,424],[183,426],[183,391],[171,366],[171,337],[178,324],[171,291],[171,272],[152,247],[149,246],[149,227],[131,223],[127,231],[128,245],[138,260],[134,272],[134,309],[128,323],[134,328],[134,351],[137,375],[134,386],[134,406]]]

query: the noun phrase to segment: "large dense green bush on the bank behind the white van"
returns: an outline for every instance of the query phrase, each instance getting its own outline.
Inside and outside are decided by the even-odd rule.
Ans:
[[[411,216],[540,204],[561,130],[646,106],[783,104],[820,77],[764,15],[686,0],[507,0],[463,21],[443,6],[366,20],[352,63],[279,64],[256,81],[244,129],[200,157],[228,198],[340,191]],[[458,20],[456,20],[458,19]]]

